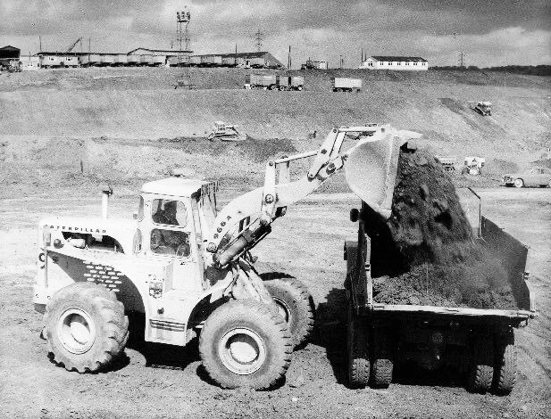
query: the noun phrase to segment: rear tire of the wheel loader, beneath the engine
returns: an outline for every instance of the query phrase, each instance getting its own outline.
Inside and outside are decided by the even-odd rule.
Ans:
[[[56,292],[44,320],[47,349],[68,371],[104,370],[129,339],[124,306],[96,283],[72,283]]]

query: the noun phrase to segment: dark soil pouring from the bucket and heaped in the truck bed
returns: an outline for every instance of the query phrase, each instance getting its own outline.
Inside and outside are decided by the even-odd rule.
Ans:
[[[473,234],[451,179],[430,153],[400,153],[384,230],[390,256],[373,268],[376,302],[516,308],[507,272]],[[377,240],[372,246],[380,247]]]

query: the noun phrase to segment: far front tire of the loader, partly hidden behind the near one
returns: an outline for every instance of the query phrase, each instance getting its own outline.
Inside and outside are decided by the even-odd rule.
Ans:
[[[305,344],[313,332],[315,309],[305,284],[295,278],[276,278],[263,283],[288,323],[295,347]]]

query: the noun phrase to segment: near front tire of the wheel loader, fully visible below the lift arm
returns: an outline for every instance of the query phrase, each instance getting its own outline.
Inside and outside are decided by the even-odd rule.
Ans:
[[[293,343],[275,308],[255,300],[233,300],[206,319],[199,352],[206,372],[222,388],[263,390],[287,372]]]

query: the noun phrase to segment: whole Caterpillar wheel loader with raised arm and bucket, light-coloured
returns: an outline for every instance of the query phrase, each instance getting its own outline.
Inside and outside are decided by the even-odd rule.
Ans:
[[[357,144],[340,152],[347,134]],[[170,177],[143,185],[132,219],[44,218],[38,225],[35,308],[51,359],[79,373],[107,368],[129,339],[184,347],[198,334],[206,372],[223,388],[267,389],[313,329],[313,301],[293,278],[263,281],[250,251],[288,207],[346,167],[352,190],[383,217],[398,148],[415,133],[336,127],[321,148],[270,160],[264,185],[217,209],[214,182]],[[290,179],[290,163],[313,158]],[[141,337],[140,337],[141,339]]]

